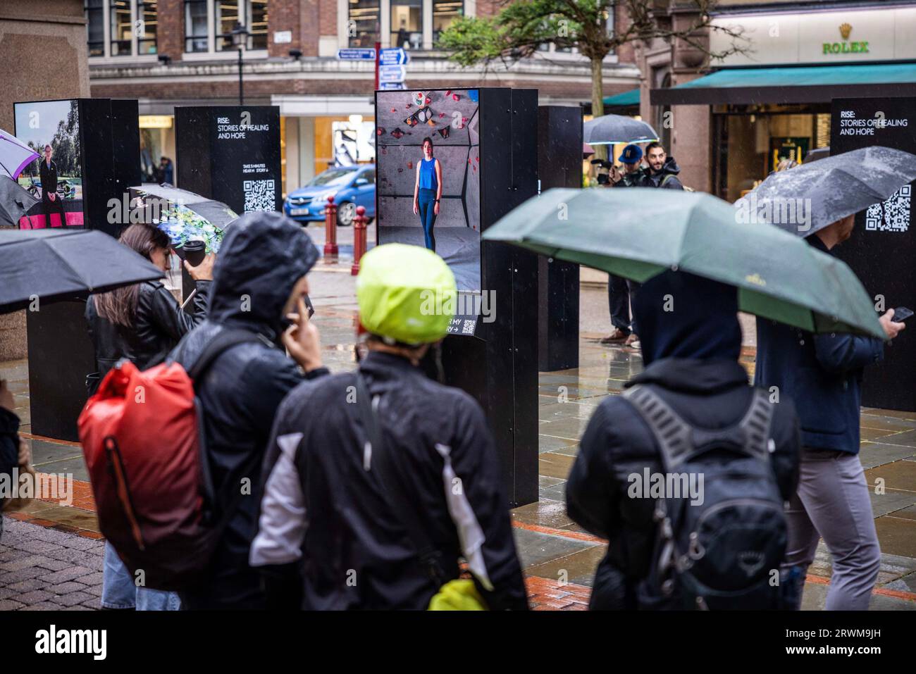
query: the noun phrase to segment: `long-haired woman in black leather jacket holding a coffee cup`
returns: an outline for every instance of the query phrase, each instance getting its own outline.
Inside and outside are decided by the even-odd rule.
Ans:
[[[163,274],[169,270],[169,236],[151,224],[131,224],[118,241],[143,255]],[[86,321],[95,349],[98,372],[86,378],[92,394],[104,375],[126,358],[140,370],[165,361],[180,339],[201,323],[206,314],[214,255],[206,255],[198,266],[185,263],[197,281],[193,313],[181,309],[178,300],[161,281],[144,281],[89,296]],[[178,595],[137,587],[133,576],[112,545],[105,543],[102,572],[102,606],[107,609],[177,611]]]

